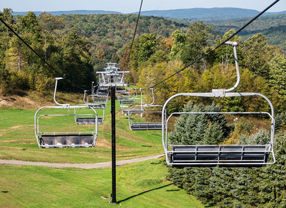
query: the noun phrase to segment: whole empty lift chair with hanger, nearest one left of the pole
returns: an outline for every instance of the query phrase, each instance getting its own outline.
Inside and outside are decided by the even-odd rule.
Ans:
[[[58,106],[45,106],[40,107],[40,109],[35,112],[35,137],[37,139],[37,144],[42,148],[64,148],[64,147],[92,147],[95,146],[97,138],[97,122],[94,123],[94,130],[90,132],[42,132],[40,130],[40,119],[43,117],[61,117],[61,116],[92,116],[95,121],[97,121],[96,111],[90,107],[92,114],[76,115],[76,114],[40,114],[41,110],[46,109],[72,109],[81,106],[73,106],[69,104],[60,104],[56,101],[56,90],[58,85],[58,80],[62,78],[56,78],[55,92],[53,94],[53,100]],[[65,124],[63,124],[65,125]]]

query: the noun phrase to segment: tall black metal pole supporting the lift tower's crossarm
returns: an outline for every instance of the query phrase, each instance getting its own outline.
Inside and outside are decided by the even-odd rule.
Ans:
[[[116,200],[116,146],[115,146],[115,86],[111,87],[111,156],[112,156],[112,204]]]

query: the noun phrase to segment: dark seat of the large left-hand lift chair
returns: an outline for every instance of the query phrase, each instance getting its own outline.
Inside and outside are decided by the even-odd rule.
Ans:
[[[93,134],[40,135],[42,148],[92,147],[94,144]]]

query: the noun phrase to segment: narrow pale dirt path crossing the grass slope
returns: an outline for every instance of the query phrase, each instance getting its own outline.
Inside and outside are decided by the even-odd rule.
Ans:
[[[164,155],[155,155],[150,157],[140,157],[136,159],[127,159],[122,161],[117,161],[116,166],[121,166],[124,164],[131,164],[134,162],[142,162],[149,159],[157,159],[163,157]],[[25,165],[25,166],[47,166],[52,168],[110,168],[111,162],[99,162],[94,164],[61,164],[61,163],[48,163],[48,162],[26,162],[20,160],[6,160],[0,159],[0,164],[12,164],[12,165]]]

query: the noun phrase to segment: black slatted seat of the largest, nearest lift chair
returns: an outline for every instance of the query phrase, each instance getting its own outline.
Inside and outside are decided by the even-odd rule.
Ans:
[[[171,146],[176,166],[262,166],[269,158],[270,145],[188,145]],[[253,165],[255,163],[255,165]]]

